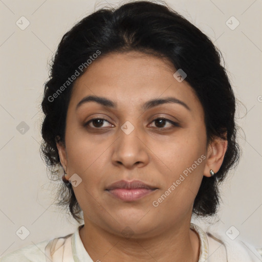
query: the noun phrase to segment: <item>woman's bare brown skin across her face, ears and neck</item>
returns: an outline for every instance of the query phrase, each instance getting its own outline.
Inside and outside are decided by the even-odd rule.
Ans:
[[[199,259],[199,238],[190,229],[193,202],[203,176],[220,169],[227,141],[215,139],[206,146],[203,107],[191,86],[173,77],[176,71],[168,60],[132,51],[99,57],[75,81],[65,144],[57,143],[57,148],[67,178],[76,173],[82,179],[73,187],[84,217],[79,233],[94,261]],[[76,110],[88,95],[111,99],[117,107],[92,101]],[[150,99],[168,96],[185,102],[190,111],[178,103],[141,109]],[[84,126],[99,117],[106,121]],[[159,117],[180,126],[153,121]],[[135,127],[128,135],[121,129],[126,121]],[[201,155],[206,159],[154,207],[152,202]],[[105,191],[121,179],[141,180],[158,189],[124,202]],[[126,227],[132,232],[129,238],[122,234]]]

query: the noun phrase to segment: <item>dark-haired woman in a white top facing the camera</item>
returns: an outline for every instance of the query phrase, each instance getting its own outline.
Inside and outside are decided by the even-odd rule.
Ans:
[[[215,214],[236,166],[235,97],[210,39],[165,5],[82,19],[59,43],[42,154],[64,171],[60,205],[84,224],[6,261],[261,261],[191,223]]]

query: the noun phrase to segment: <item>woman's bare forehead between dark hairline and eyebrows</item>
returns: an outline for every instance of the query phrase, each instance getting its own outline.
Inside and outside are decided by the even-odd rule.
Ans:
[[[93,95],[116,101],[120,108],[174,96],[193,109],[201,106],[191,86],[173,77],[176,71],[169,60],[140,52],[101,56],[76,79],[70,104],[76,107],[83,97]]]

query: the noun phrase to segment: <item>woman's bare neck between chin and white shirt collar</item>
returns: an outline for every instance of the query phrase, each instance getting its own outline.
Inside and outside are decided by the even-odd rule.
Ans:
[[[190,222],[150,238],[125,238],[86,222],[79,234],[93,261],[199,261],[199,238]]]

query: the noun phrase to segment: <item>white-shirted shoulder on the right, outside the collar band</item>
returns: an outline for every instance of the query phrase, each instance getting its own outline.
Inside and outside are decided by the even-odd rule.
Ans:
[[[206,232],[209,262],[261,262],[261,249],[241,239],[227,239],[222,233]]]

